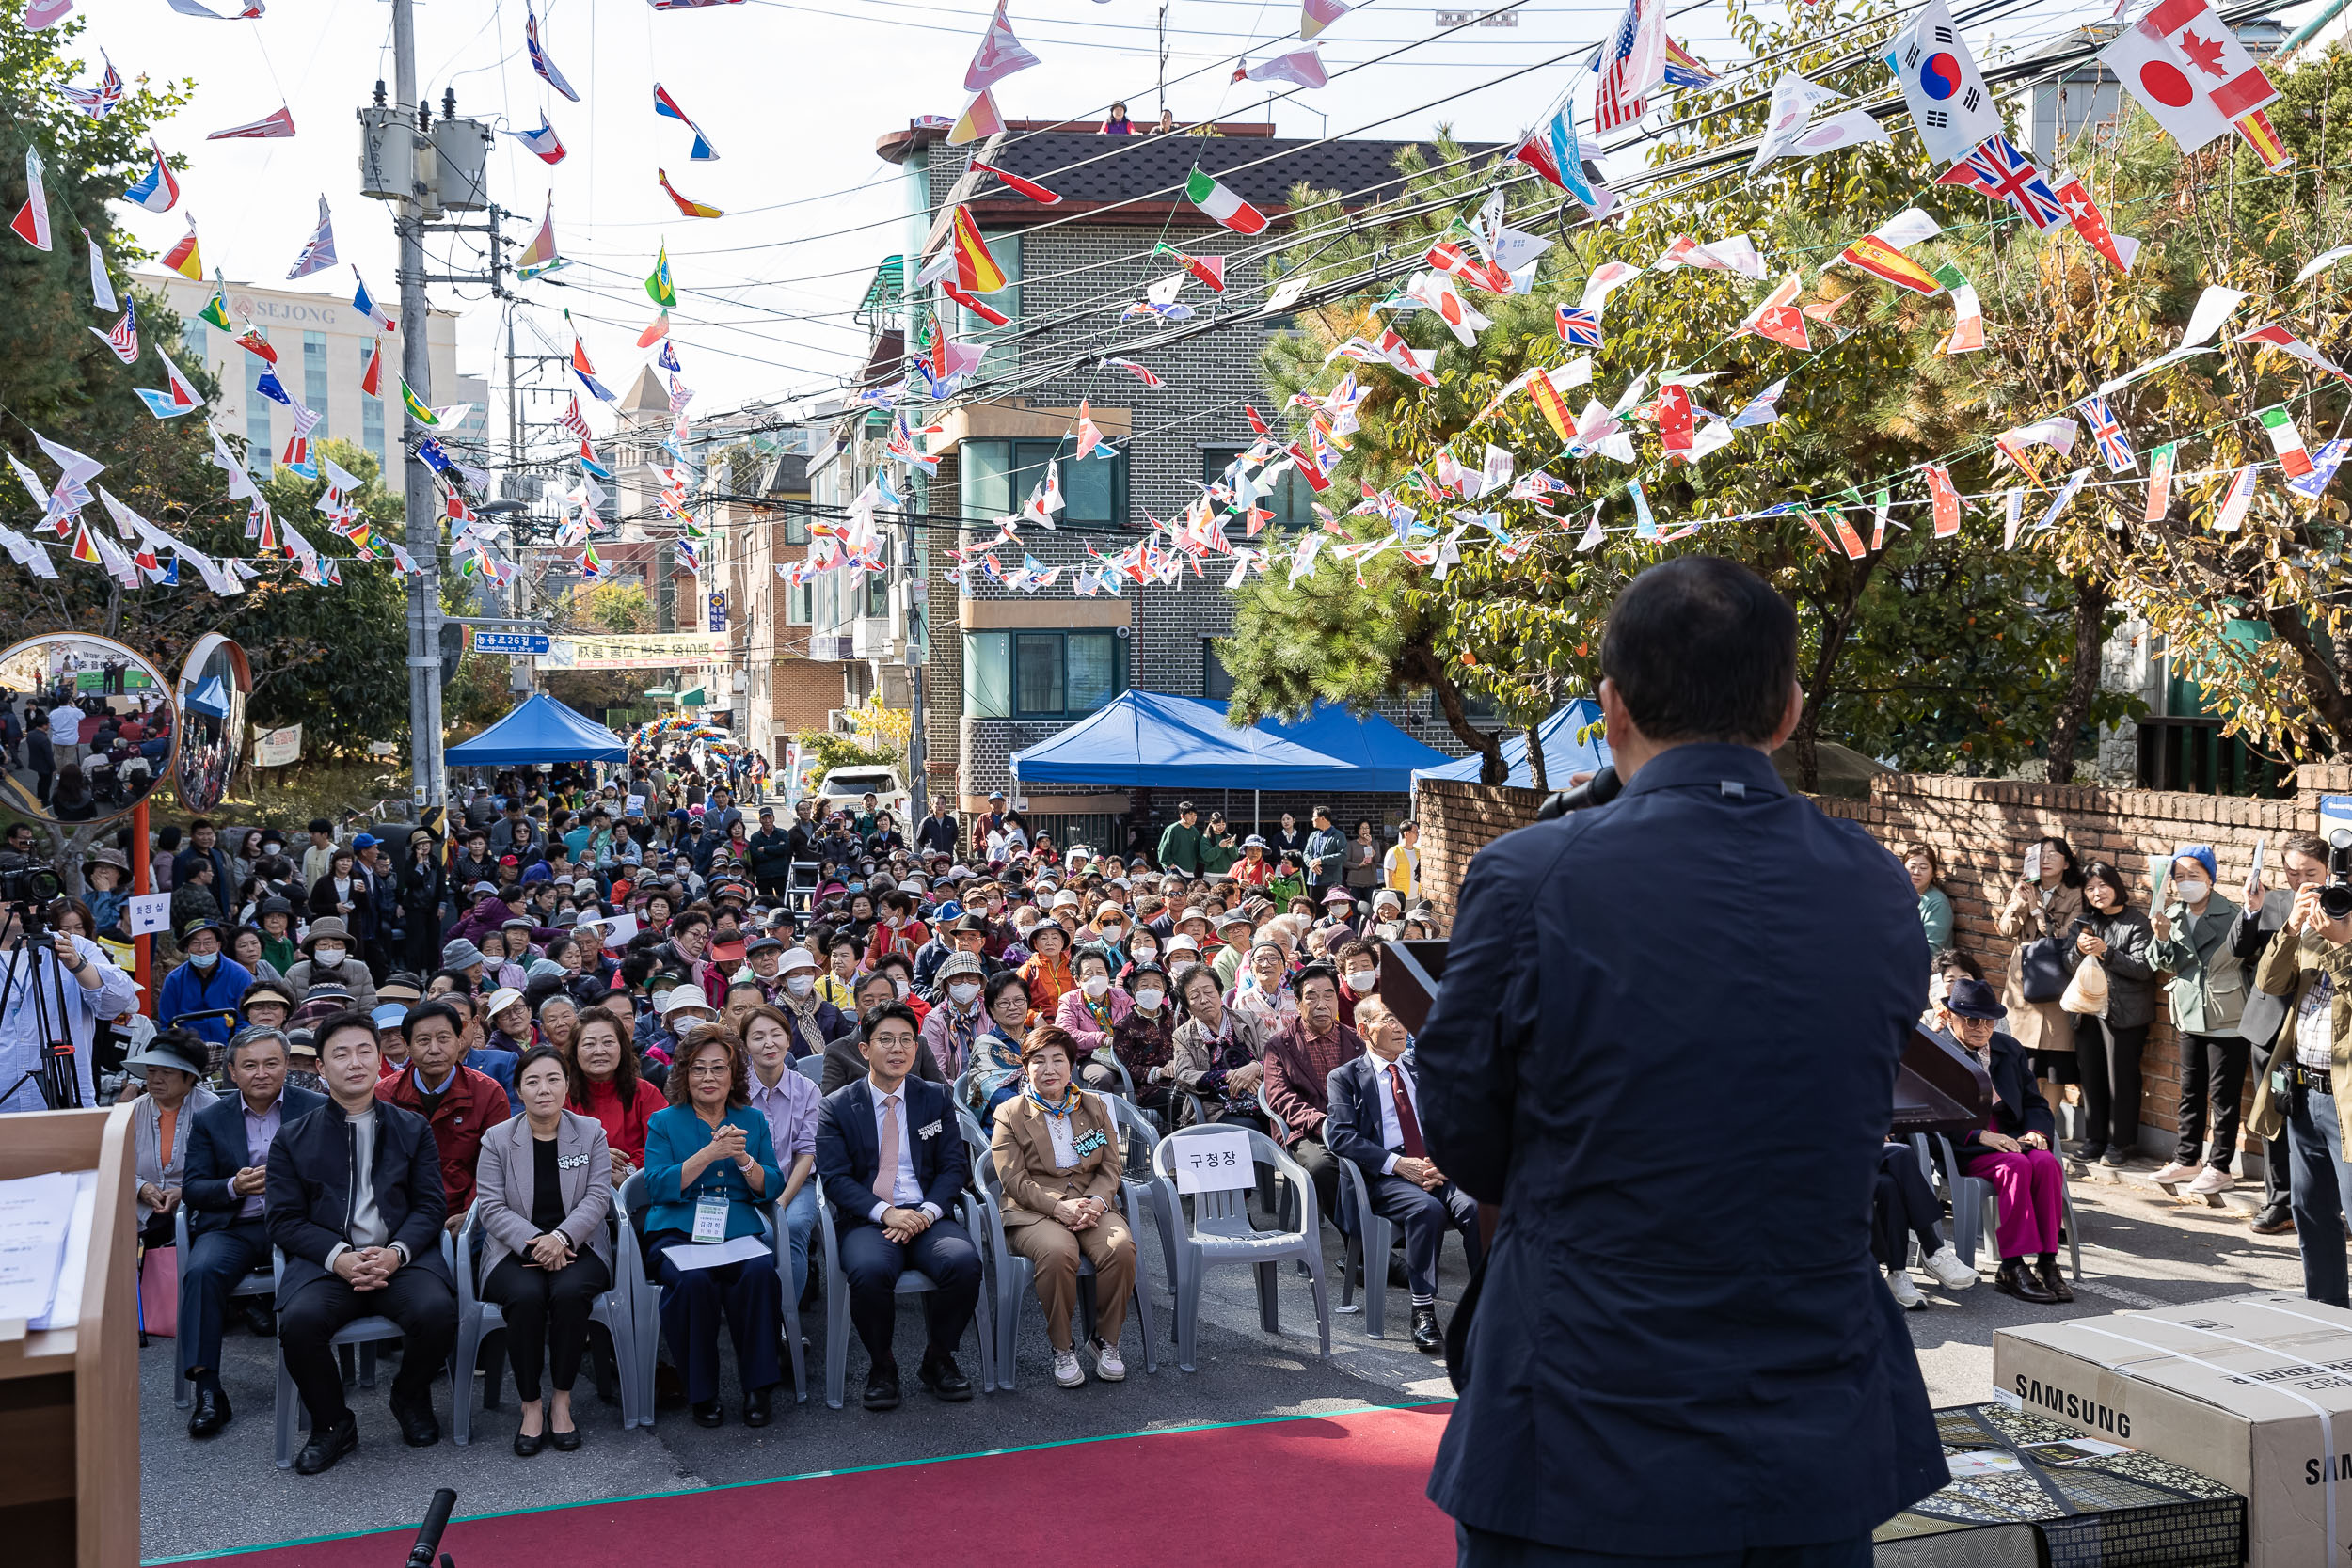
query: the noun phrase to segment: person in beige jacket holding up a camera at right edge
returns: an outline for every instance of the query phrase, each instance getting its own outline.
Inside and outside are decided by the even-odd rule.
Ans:
[[[2336,1105],[2352,1091],[2352,830],[2328,835],[2328,877],[2296,889],[2286,929],[2263,952],[2253,987],[2284,997],[2288,1009],[2246,1126],[2258,1138],[2286,1128],[2303,1293],[2352,1307],[2345,1276],[2352,1147]]]

